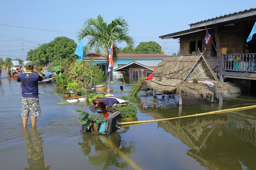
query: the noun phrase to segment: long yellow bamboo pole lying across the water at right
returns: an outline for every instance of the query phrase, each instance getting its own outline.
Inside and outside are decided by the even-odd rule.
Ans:
[[[185,118],[185,117],[194,117],[194,116],[202,116],[202,115],[212,115],[212,114],[218,114],[218,113],[225,113],[225,112],[231,112],[231,111],[237,111],[237,110],[245,110],[245,109],[252,109],[256,108],[256,105],[253,106],[246,106],[246,107],[237,107],[232,109],[225,109],[225,110],[217,110],[212,112],[206,112],[206,113],[200,113],[195,115],[187,115],[187,116],[180,116],[180,117],[172,117],[172,118],[166,118],[166,119],[156,119],[156,120],[148,120],[148,121],[135,121],[135,122],[119,122],[119,125],[127,125],[127,124],[138,124],[138,123],[149,123],[149,122],[158,122],[158,121],[166,121],[166,120],[172,120],[172,119],[179,119],[179,118]]]

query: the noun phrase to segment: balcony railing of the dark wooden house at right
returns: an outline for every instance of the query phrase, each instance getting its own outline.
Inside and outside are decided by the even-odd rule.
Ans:
[[[222,54],[222,70],[256,73],[256,53]]]

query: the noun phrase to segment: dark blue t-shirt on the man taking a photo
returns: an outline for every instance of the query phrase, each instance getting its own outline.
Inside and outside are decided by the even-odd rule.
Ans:
[[[27,80],[27,78],[33,74],[32,72],[25,72],[19,75],[19,77],[16,79],[17,82],[21,82],[21,85]],[[38,81],[42,81],[43,77],[33,74],[30,76],[28,81],[25,83],[25,85],[22,88],[22,97],[33,97],[38,98]]]

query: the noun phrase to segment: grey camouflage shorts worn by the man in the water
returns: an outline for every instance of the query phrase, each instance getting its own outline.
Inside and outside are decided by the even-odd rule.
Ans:
[[[21,103],[22,103],[22,109],[21,109],[22,117],[28,117],[29,113],[31,117],[37,117],[41,115],[41,109],[40,109],[38,98],[22,97]]]

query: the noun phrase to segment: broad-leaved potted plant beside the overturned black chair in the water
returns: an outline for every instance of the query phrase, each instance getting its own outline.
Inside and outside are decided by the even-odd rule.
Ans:
[[[76,109],[77,112],[81,112],[81,115],[78,117],[78,121],[79,123],[82,124],[82,130],[83,131],[90,131],[93,127],[93,125],[95,124],[95,129],[97,130],[97,126],[100,120],[104,119],[104,117],[100,117],[98,118],[95,115],[91,115],[88,112],[85,112],[83,110],[78,110]]]

